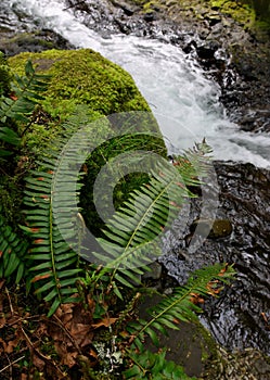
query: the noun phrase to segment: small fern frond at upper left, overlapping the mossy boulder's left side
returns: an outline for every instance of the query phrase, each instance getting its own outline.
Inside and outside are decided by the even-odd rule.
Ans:
[[[39,93],[48,88],[50,76],[36,74],[30,61],[25,65],[25,76],[15,74],[15,81],[11,83],[14,92],[13,99],[3,97],[0,103],[0,121],[5,123],[7,118],[13,118],[28,123],[28,117],[37,102],[43,99]]]

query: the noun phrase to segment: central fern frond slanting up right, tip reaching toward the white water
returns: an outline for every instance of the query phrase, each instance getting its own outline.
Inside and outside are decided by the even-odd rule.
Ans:
[[[147,270],[146,265],[162,254],[164,231],[185,200],[194,197],[187,186],[197,186],[197,175],[205,174],[208,159],[204,155],[209,152],[203,142],[189,152],[183,161],[185,166],[172,166],[165,160],[157,163],[150,183],[133,191],[115,213],[104,237],[99,239],[105,253],[94,254],[104,265],[97,280],[111,271],[112,280],[115,278],[124,286],[140,282],[138,275]]]

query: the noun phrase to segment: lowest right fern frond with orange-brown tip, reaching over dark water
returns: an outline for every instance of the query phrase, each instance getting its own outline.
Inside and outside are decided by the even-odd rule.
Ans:
[[[153,343],[158,345],[156,331],[165,333],[166,328],[177,330],[179,329],[177,324],[180,320],[194,320],[195,313],[200,313],[202,309],[192,302],[192,294],[206,296],[209,294],[210,281],[218,279],[227,283],[234,274],[230,266],[224,271],[222,264],[196,270],[185,286],[176,288],[171,295],[166,296],[149,311],[150,320],[139,319],[128,325],[127,331],[134,338],[134,344],[141,350],[144,335],[147,334]]]

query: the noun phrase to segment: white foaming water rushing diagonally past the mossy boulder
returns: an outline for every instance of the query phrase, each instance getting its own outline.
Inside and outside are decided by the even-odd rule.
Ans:
[[[126,68],[151,105],[170,151],[206,137],[217,160],[270,166],[270,137],[240,131],[230,123],[218,102],[218,86],[179,48],[136,36],[104,38],[65,10],[64,0],[2,0],[1,11],[20,29],[52,29],[77,48],[91,48]]]

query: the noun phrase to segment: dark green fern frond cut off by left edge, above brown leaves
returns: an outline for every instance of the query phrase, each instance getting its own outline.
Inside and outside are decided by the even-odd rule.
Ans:
[[[18,283],[25,274],[27,250],[28,243],[7,226],[0,207],[0,278],[11,279],[16,275]]]

